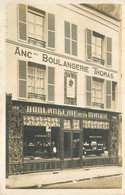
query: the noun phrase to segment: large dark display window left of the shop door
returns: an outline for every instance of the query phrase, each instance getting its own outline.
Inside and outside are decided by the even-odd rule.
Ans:
[[[59,158],[59,134],[57,127],[24,127],[24,160]]]

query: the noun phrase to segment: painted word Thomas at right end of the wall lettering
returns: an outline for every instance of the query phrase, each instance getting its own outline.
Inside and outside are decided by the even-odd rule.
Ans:
[[[113,73],[109,73],[108,71],[99,70],[98,68],[92,67],[94,70],[94,75],[108,77],[113,79]]]

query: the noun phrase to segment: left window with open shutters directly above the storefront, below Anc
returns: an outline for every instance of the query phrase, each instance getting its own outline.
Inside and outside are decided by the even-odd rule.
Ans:
[[[48,67],[48,101],[54,101],[54,72]],[[46,66],[19,60],[19,97],[46,100]]]

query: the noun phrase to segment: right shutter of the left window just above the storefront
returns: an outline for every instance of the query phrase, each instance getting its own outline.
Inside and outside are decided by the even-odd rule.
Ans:
[[[54,101],[55,69],[48,67],[48,101]]]

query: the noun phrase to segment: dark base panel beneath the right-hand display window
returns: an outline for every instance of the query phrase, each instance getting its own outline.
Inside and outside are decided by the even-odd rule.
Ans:
[[[118,165],[117,157],[107,157],[107,158],[85,158],[82,162],[83,166],[93,166],[93,165]]]

